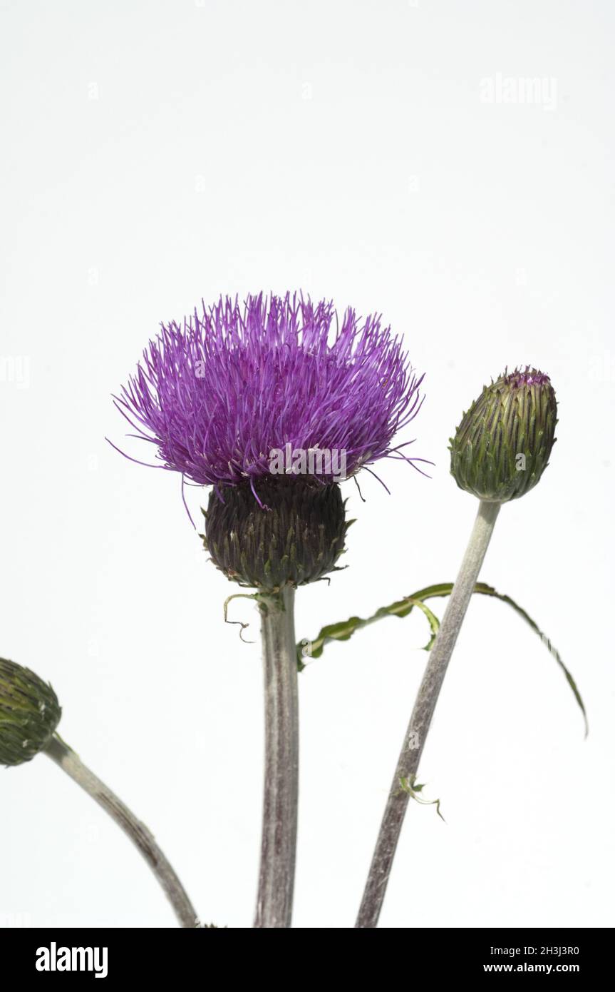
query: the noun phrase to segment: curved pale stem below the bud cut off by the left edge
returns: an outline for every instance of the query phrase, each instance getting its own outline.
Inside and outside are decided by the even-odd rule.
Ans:
[[[101,782],[89,768],[83,764],[78,755],[64,744],[57,736],[52,737],[44,751],[45,754],[62,769],[66,775],[81,786],[88,796],[96,800],[99,806],[109,813],[124,832],[130,837],[135,846],[141,851],[152,868],[154,875],[171,904],[181,927],[197,927],[196,912],[186,895],[186,892],[162,854],[154,840],[154,835],[133,812],[122,803],[111,790]]]

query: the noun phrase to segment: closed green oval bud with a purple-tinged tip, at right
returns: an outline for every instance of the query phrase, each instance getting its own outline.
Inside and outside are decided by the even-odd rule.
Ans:
[[[451,438],[458,486],[487,502],[523,496],[549,464],[557,422],[548,375],[529,366],[505,372],[483,387]]]

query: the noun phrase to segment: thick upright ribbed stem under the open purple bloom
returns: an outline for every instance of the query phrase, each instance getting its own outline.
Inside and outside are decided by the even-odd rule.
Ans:
[[[264,796],[255,927],[290,927],[297,844],[299,722],[294,589],[260,606]]]

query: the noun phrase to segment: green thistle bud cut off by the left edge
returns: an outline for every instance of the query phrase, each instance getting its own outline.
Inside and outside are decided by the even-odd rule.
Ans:
[[[0,658],[0,765],[31,761],[49,744],[60,716],[51,685]]]

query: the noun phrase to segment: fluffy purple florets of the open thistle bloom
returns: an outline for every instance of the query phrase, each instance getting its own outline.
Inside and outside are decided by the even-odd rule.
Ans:
[[[390,446],[418,413],[422,380],[379,316],[349,308],[340,325],[332,303],[260,294],[161,324],[114,399],[157,446],[157,467],[255,491],[287,444],[346,451],[348,475],[378,458],[425,460]]]

